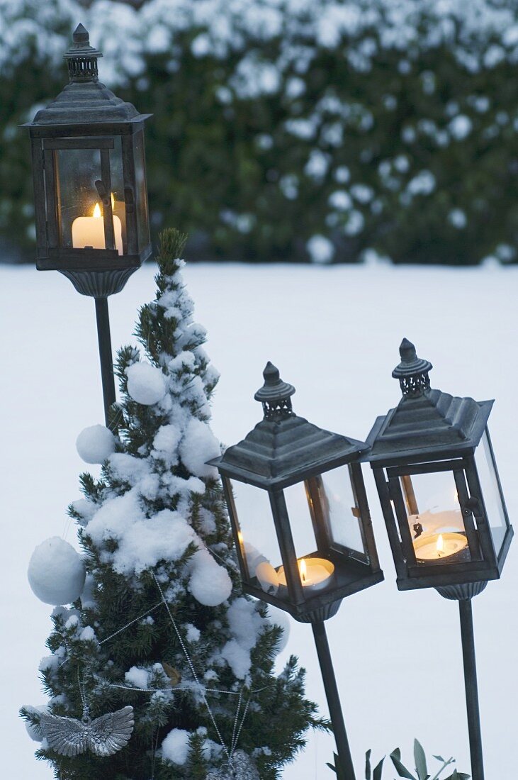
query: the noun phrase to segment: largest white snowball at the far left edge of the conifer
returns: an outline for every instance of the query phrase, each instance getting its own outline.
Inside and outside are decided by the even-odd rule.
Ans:
[[[27,572],[33,594],[54,607],[72,604],[83,592],[83,558],[68,541],[50,537],[33,551]]]

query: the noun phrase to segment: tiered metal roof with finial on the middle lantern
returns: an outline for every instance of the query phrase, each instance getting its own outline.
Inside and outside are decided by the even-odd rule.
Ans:
[[[224,456],[212,460],[227,477],[260,487],[284,487],[358,459],[363,441],[324,431],[291,409],[293,385],[280,379],[278,369],[267,363],[264,385],[255,393],[263,403],[264,419]]]

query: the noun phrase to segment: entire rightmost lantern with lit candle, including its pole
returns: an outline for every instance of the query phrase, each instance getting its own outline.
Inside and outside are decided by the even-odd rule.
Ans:
[[[471,599],[502,573],[513,527],[488,431],[492,401],[430,388],[432,363],[403,339],[393,377],[403,398],[367,443],[397,587],[459,601],[471,771],[484,780]]]

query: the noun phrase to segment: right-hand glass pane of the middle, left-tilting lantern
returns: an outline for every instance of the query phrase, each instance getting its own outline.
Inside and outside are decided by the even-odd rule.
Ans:
[[[320,480],[322,519],[329,528],[331,544],[365,553],[361,537],[361,514],[354,498],[349,466],[326,471]]]

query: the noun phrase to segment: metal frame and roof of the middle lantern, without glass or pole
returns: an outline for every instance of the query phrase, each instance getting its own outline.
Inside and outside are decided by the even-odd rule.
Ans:
[[[264,378],[264,387],[255,393],[255,399],[263,403],[264,419],[243,441],[229,447],[223,456],[211,463],[217,466],[223,480],[245,592],[289,612],[299,622],[319,622],[335,615],[344,597],[383,579],[361,472],[360,458],[366,446],[362,441],[323,431],[294,414],[290,400],[294,388],[280,380],[272,363],[266,366]],[[319,477],[340,466],[348,466],[363,553],[334,542],[322,512],[323,488]],[[266,491],[270,499],[286,573],[287,597],[265,592],[248,568],[231,480]],[[323,555],[335,566],[333,582],[312,595],[305,593],[301,583],[291,517],[284,495],[284,490],[294,484],[305,485],[317,545],[317,551],[304,557]]]

